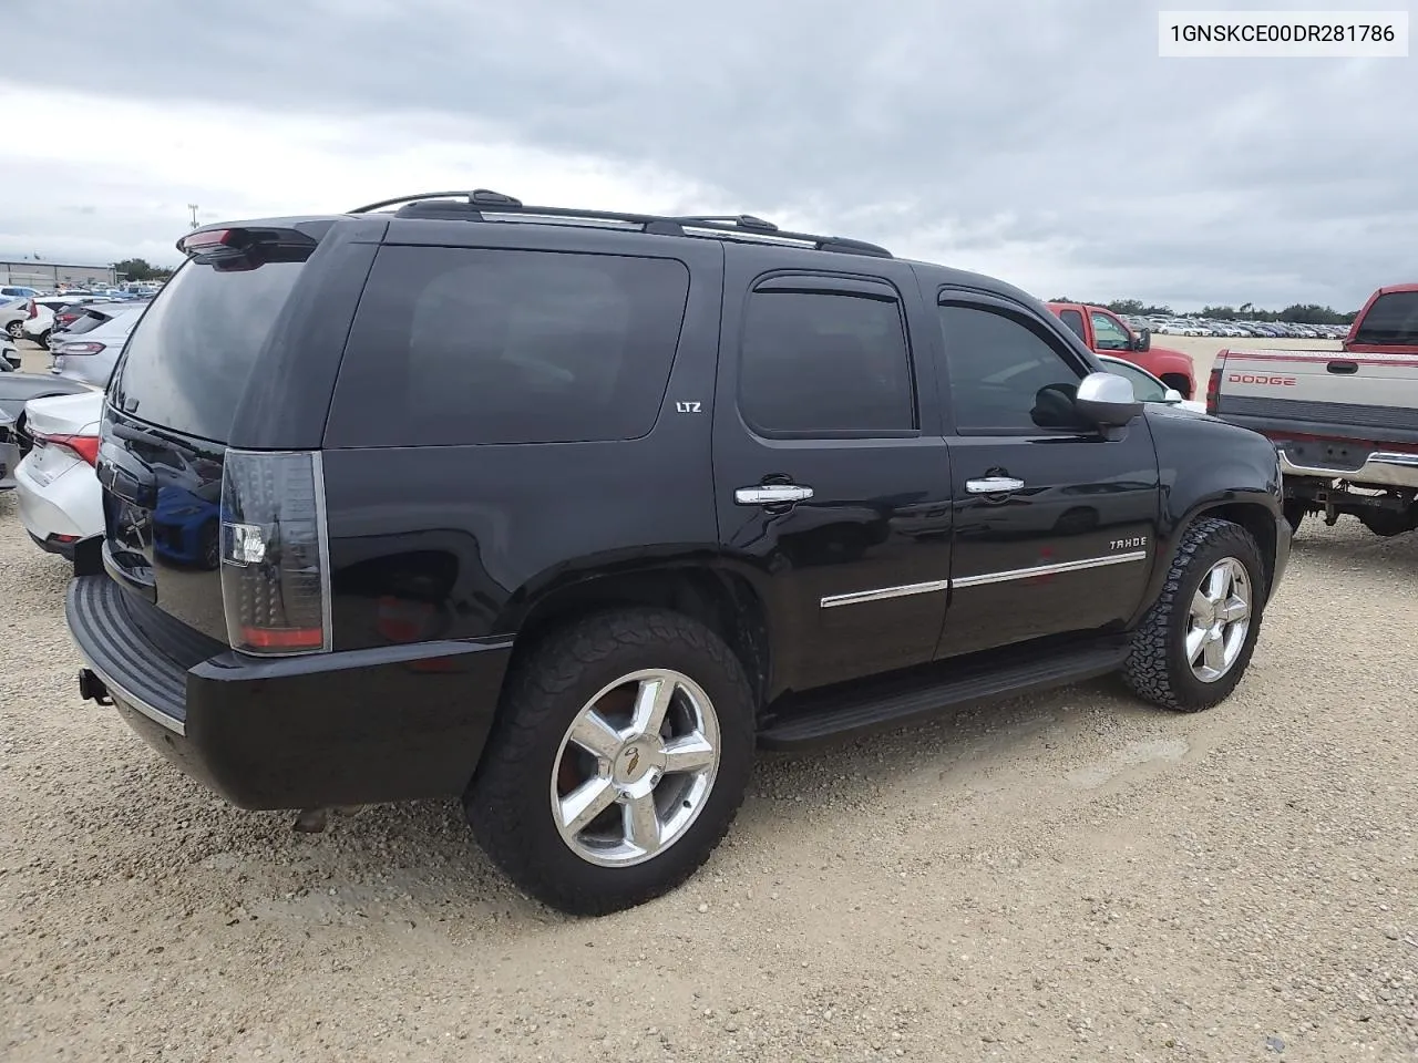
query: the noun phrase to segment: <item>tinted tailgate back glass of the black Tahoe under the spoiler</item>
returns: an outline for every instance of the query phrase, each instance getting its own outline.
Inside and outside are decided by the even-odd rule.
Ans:
[[[225,442],[237,400],[301,274],[299,262],[218,274],[184,264],[133,330],[113,403],[149,424]]]

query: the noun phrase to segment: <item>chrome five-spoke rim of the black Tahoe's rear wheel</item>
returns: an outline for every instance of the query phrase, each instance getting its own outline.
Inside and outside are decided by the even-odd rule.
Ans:
[[[631,672],[576,714],[552,768],[552,818],[590,863],[658,856],[699,818],[719,772],[719,717],[669,669]]]

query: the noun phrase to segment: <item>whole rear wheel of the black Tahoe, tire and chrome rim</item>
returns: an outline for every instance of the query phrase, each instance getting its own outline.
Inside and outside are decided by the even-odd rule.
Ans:
[[[642,904],[715,850],[753,768],[743,668],[702,624],[618,609],[516,666],[464,806],[520,889],[573,916]]]

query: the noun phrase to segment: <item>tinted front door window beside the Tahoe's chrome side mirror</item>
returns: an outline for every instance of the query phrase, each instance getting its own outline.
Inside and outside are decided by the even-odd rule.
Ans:
[[[957,431],[1081,427],[1073,412],[1081,374],[1025,320],[980,306],[940,308]]]

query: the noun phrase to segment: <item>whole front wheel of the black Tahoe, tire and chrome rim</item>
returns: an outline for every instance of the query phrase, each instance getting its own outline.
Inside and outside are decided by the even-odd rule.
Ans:
[[[1133,632],[1123,679],[1144,700],[1195,713],[1245,675],[1261,631],[1265,566],[1239,524],[1202,517],[1185,530],[1163,592]]]

